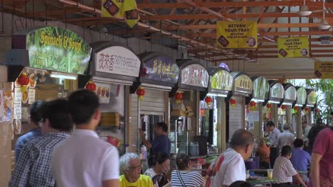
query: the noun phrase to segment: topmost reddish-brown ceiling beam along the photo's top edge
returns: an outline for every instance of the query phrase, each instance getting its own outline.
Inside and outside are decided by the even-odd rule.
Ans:
[[[7,0],[9,1],[9,0]],[[302,6],[303,1],[292,0],[292,1],[234,1],[234,2],[200,2],[196,3],[197,6],[206,8],[235,8],[235,7],[260,7],[260,6]],[[310,8],[322,8],[322,4],[313,1],[307,1],[307,6]],[[138,8],[190,8],[191,5],[186,3],[142,3],[137,4]],[[333,3],[326,3],[326,8],[333,8]]]

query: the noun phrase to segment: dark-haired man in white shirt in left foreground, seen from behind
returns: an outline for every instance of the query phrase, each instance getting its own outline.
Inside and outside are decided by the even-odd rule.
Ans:
[[[51,168],[58,187],[119,187],[119,154],[94,131],[100,122],[99,98],[88,90],[68,97],[75,123],[71,137],[53,150]]]

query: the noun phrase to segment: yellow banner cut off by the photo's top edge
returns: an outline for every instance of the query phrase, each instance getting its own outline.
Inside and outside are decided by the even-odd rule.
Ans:
[[[129,27],[139,21],[135,0],[102,0],[102,17],[124,18]]]

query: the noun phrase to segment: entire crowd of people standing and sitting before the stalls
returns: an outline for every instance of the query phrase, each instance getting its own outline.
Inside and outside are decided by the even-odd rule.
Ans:
[[[206,176],[191,169],[186,154],[176,156],[170,171],[171,143],[167,125],[157,123],[157,137],[142,142],[153,149],[152,166],[142,171],[136,153],[120,157],[117,148],[98,137],[99,98],[79,90],[54,101],[35,101],[30,108],[36,128],[21,136],[15,147],[16,164],[9,186],[206,186],[248,187],[245,160],[253,153],[255,138],[248,130],[236,130],[229,147],[208,167]],[[331,113],[333,120],[333,113]],[[273,187],[333,186],[333,126],[322,120],[312,128],[302,123],[304,138],[295,139],[289,124],[283,132],[272,121],[266,123],[269,142],[261,139],[258,155],[264,169],[273,168]],[[310,156],[312,155],[312,156]],[[297,171],[307,171],[310,177]]]

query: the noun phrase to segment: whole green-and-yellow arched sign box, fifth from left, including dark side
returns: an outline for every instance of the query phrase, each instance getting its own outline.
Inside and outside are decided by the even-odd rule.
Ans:
[[[207,69],[209,77],[207,96],[228,96],[233,91],[233,76],[223,67],[210,67]]]

